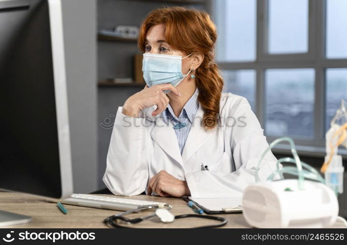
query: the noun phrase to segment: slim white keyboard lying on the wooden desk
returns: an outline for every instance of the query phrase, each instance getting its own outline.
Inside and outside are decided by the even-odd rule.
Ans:
[[[61,203],[72,204],[84,207],[113,209],[120,211],[128,211],[139,206],[166,204],[163,202],[142,201],[119,197],[96,196],[88,194],[73,194],[71,197],[60,200]]]

